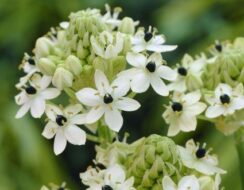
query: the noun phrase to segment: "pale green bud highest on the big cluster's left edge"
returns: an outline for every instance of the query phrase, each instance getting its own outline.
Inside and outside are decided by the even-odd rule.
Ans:
[[[34,53],[36,58],[46,57],[51,53],[53,42],[47,37],[40,37],[36,41]]]

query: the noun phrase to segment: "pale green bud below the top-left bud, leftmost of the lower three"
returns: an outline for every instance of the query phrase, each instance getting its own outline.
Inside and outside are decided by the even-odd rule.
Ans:
[[[48,76],[52,76],[56,70],[55,63],[51,59],[45,57],[39,59],[37,67],[43,74]]]

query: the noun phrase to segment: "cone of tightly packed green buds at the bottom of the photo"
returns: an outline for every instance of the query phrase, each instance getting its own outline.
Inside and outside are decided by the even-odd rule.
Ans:
[[[181,161],[171,139],[151,135],[143,139],[135,151],[127,156],[125,168],[128,177],[135,177],[136,189],[159,189],[164,175],[178,175]]]

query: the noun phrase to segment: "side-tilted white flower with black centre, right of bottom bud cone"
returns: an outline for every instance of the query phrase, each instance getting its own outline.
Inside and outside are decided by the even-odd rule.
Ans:
[[[215,155],[210,155],[205,146],[206,144],[202,147],[200,147],[199,144],[196,145],[192,139],[187,141],[186,148],[178,146],[183,164],[188,168],[195,169],[206,175],[226,173],[224,170],[217,167],[217,157]]]

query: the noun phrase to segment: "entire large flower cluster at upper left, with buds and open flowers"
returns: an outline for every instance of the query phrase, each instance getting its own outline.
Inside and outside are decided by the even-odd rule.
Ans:
[[[56,155],[67,142],[85,144],[86,128],[100,133],[106,126],[111,134],[119,132],[121,112],[141,106],[132,94],[151,85],[159,95],[168,96],[163,79],[176,79],[160,53],[177,46],[165,45],[165,37],[155,28],[137,28],[133,19],[119,19],[120,8],[112,11],[106,5],[106,11],[71,13],[69,21],[37,39],[33,54],[25,54],[20,65],[25,76],[16,85],[20,90],[16,103],[21,105],[16,118],[29,110],[34,118],[46,115],[42,135],[54,137]],[[132,68],[127,69],[127,63]],[[65,99],[69,103],[63,105]]]

